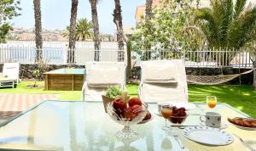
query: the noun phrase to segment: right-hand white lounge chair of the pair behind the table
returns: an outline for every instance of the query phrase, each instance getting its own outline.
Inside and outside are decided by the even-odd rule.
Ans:
[[[188,85],[182,59],[143,61],[139,98],[144,102],[188,102]]]

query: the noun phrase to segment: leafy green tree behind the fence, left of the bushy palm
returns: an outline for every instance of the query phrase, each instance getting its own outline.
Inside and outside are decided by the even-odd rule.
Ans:
[[[185,32],[193,12],[191,0],[162,0],[160,7],[153,8],[150,18],[137,25],[130,38],[131,50],[141,54],[142,59],[150,59],[153,51],[178,53],[198,48]]]

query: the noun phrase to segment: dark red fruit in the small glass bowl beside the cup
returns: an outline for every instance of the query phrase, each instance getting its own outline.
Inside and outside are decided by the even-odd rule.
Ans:
[[[172,107],[172,116],[170,120],[174,124],[181,124],[187,118],[187,113],[185,108]]]

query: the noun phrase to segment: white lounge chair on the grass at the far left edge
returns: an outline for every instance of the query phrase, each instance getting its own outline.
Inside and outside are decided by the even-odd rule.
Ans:
[[[0,73],[0,87],[15,87],[20,81],[20,64],[4,63],[3,73]]]

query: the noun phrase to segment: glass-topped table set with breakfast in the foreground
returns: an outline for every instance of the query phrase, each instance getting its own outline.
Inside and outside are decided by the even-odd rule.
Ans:
[[[205,103],[195,103],[197,108],[189,112],[203,115],[207,110]],[[176,140],[161,129],[165,120],[155,115],[157,104],[149,103],[148,108],[153,120],[148,123],[131,126],[140,137],[130,143],[120,142],[114,136],[123,127],[105,114],[102,103],[45,101],[3,123],[0,127],[0,150],[180,150]],[[225,131],[242,137],[256,148],[256,131],[245,131],[230,125],[227,117],[247,117],[225,103],[218,103],[216,109],[224,122],[229,124]],[[189,115],[192,122],[199,115]],[[195,123],[196,124],[196,123]],[[247,151],[237,137],[227,146],[211,147],[195,143],[183,137],[182,129],[177,129],[185,146],[191,151]]]

